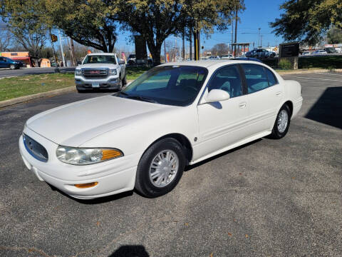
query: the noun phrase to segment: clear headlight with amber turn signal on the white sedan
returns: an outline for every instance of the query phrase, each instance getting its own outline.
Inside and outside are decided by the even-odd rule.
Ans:
[[[63,163],[86,165],[121,157],[123,156],[123,152],[115,148],[73,148],[58,146],[56,156]]]

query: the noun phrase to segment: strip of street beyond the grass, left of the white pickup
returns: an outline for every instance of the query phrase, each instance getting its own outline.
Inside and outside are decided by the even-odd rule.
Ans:
[[[61,72],[75,71],[75,67],[60,67],[58,68]],[[55,73],[56,68],[21,68],[21,69],[0,69],[0,79],[8,78],[13,76],[26,76],[33,74],[51,74]]]

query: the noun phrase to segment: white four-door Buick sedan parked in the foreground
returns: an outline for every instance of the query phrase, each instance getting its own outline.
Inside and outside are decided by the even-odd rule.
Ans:
[[[28,119],[21,156],[39,180],[75,198],[175,188],[185,166],[257,138],[286,135],[301,85],[255,61],[157,66],[123,91]]]

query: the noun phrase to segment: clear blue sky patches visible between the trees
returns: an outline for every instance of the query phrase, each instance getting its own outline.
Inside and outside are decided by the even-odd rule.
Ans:
[[[271,33],[272,29],[269,27],[269,22],[279,18],[281,11],[279,6],[284,3],[284,0],[245,0],[246,9],[239,14],[240,22],[237,24],[237,41],[240,43],[255,43],[258,44],[258,31],[262,35],[263,46],[276,46],[283,40],[281,37],[276,37]],[[127,49],[126,51],[134,51],[133,43],[130,43],[126,38],[129,33],[118,33],[118,42],[115,47],[118,49]],[[169,36],[167,41],[177,41],[180,44],[181,39],[175,36]],[[224,32],[215,32],[210,39],[206,39],[201,35],[201,45],[204,49],[211,49],[212,46],[219,43],[230,43],[232,40],[232,29]],[[186,42],[189,46],[189,42]]]

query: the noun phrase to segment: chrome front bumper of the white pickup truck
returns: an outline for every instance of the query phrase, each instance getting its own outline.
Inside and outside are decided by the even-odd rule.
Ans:
[[[93,87],[93,84],[99,84],[99,87]],[[118,76],[108,76],[105,79],[86,79],[83,76],[75,76],[75,84],[78,90],[87,89],[120,89]]]

